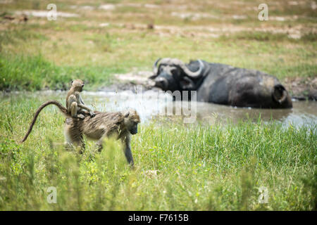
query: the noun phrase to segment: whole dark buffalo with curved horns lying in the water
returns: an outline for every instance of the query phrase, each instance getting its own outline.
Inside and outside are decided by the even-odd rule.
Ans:
[[[258,70],[204,60],[188,64],[159,58],[153,65],[156,87],[163,91],[197,91],[197,101],[251,108],[292,108],[287,90],[276,77]],[[190,99],[189,99],[190,100]]]

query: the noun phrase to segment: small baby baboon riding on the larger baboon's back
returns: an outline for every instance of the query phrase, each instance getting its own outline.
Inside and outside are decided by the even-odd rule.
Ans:
[[[66,97],[66,108],[67,112],[71,117],[80,118],[82,120],[85,119],[85,115],[83,111],[80,109],[85,109],[89,112],[91,117],[94,117],[94,112],[90,110],[82,101],[82,97],[80,96],[80,92],[82,92],[82,88],[84,87],[85,83],[81,79],[75,79],[72,82],[72,86],[67,93]]]

